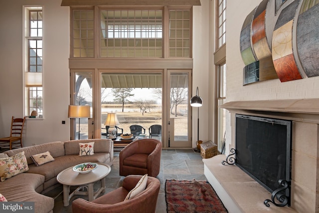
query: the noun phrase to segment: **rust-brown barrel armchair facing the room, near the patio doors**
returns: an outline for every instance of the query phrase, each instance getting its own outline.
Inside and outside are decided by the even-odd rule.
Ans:
[[[120,176],[160,173],[161,142],[156,139],[136,140],[120,152]]]

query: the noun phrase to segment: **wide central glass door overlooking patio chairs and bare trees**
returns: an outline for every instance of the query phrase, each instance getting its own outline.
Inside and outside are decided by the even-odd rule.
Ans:
[[[116,113],[117,134],[162,141],[162,70],[101,71],[101,138],[108,113]],[[136,135],[137,129],[142,135]],[[141,129],[141,131],[140,131]]]

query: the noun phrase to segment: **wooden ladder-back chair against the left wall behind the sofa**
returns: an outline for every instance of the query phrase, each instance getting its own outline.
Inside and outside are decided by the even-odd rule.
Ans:
[[[10,137],[0,138],[0,147],[8,147],[9,149],[22,147],[22,131],[24,126],[24,118],[13,118],[11,120]]]

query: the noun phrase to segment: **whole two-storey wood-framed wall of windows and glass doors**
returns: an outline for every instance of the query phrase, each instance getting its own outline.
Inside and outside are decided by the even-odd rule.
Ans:
[[[190,95],[188,88],[191,85],[193,67],[192,5],[181,3],[180,6],[172,3],[173,5],[165,6],[142,4],[134,7],[70,7],[72,63],[69,68],[73,73],[70,80],[70,103],[76,104],[76,98],[80,95],[77,93],[80,92],[80,77],[76,75],[87,79],[92,94],[92,118],[90,125],[85,126],[81,122],[81,127],[87,127],[87,130],[80,129],[80,132],[87,136],[81,135],[80,138],[105,137],[104,123],[107,112],[117,111],[120,122],[118,127],[123,128],[125,133],[130,132],[131,124],[139,124],[142,119],[144,121],[149,118],[151,121],[145,122],[145,128],[149,128],[151,123],[161,125],[169,122],[170,126],[163,125],[162,129],[163,147],[191,147],[191,114],[187,110],[187,97]],[[187,62],[180,63],[181,57]],[[171,67],[175,69],[169,69]],[[89,70],[85,70],[86,68]],[[86,72],[91,72],[92,75],[88,77]],[[180,72],[187,73],[187,78],[179,75]],[[178,75],[171,77],[170,73]],[[174,78],[174,81],[170,81],[171,78]],[[185,100],[175,101],[173,109],[169,108],[172,106],[168,97],[169,94],[172,95],[169,93],[169,82],[175,82],[178,86],[172,85],[171,88],[183,89],[178,94],[187,94]],[[114,92],[112,89],[132,89],[137,92],[129,102],[125,101],[125,108],[122,108],[124,102],[115,100],[113,95],[120,92]],[[159,89],[160,92],[152,94],[153,89]],[[83,96],[88,94],[85,92]],[[159,107],[154,106],[154,101]],[[137,111],[134,112],[135,110]],[[133,112],[138,117],[127,116]],[[171,112],[176,116],[170,116]],[[71,120],[72,139],[76,138],[74,133],[78,133],[76,122],[78,121]],[[182,131],[178,129],[178,125],[182,125]]]

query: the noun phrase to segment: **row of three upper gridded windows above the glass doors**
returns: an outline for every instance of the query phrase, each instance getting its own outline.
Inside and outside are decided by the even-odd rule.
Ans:
[[[191,8],[95,8],[72,9],[71,57],[191,57]]]

